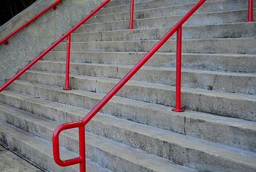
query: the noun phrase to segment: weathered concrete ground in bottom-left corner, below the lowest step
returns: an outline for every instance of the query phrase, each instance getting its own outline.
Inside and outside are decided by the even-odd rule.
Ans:
[[[43,172],[0,145],[1,172]]]

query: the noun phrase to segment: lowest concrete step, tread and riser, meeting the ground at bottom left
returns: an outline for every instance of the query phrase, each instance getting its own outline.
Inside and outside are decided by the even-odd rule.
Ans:
[[[3,109],[1,108],[1,110]],[[10,108],[9,110],[12,109]],[[3,115],[3,113],[1,113],[1,115]],[[12,123],[13,121],[7,122]],[[21,121],[16,121],[15,124],[20,124],[19,122]],[[22,127],[21,125],[22,124],[20,124],[19,127]],[[28,127],[28,124],[23,124],[23,127]],[[14,127],[13,125],[6,124],[2,120],[0,120],[0,143],[44,171],[79,171],[77,165],[62,168],[54,162],[52,155],[52,143],[50,141],[43,140],[32,133],[28,133],[22,129]],[[78,156],[65,148],[60,148],[60,154],[63,159],[71,159]],[[90,159],[86,159],[86,162],[87,171],[110,172],[107,169],[100,168],[99,165],[95,164]]]

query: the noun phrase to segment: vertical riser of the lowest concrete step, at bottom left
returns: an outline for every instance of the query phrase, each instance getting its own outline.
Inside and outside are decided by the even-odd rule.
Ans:
[[[18,133],[17,133],[18,134]],[[21,143],[18,138],[9,136],[8,133],[4,133],[0,130],[0,143],[5,147],[9,147],[16,154],[28,159],[28,161],[33,162],[36,166],[39,166],[41,169],[45,171],[56,171],[56,172],[75,172],[74,168],[61,168],[58,166],[51,155],[46,154],[44,150],[40,150],[38,152],[38,147],[31,147],[28,143]],[[40,161],[36,161],[39,160]]]

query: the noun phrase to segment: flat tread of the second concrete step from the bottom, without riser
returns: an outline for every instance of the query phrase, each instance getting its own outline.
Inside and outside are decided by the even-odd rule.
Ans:
[[[46,127],[49,127],[51,129],[55,129],[59,125],[52,120],[36,117],[35,115],[32,115],[26,111],[18,110],[16,108],[10,108],[10,106],[6,106],[4,104],[0,104],[0,106],[1,110],[10,111],[10,113],[17,115],[20,118],[31,120],[32,122],[36,122],[40,125],[47,125]],[[74,134],[76,135],[76,131],[70,130],[67,131],[66,134],[70,134],[70,136],[73,137]],[[86,144],[95,145],[99,149],[111,152],[111,154],[115,154],[116,156],[122,156],[123,159],[129,159],[129,161],[133,161],[136,164],[138,163],[143,166],[147,166],[147,168],[150,168],[152,170],[169,171],[170,169],[172,169],[171,171],[194,171],[192,169],[173,164],[166,159],[146,154],[141,150],[136,150],[122,143],[117,143],[115,141],[96,136],[92,133],[86,133]]]

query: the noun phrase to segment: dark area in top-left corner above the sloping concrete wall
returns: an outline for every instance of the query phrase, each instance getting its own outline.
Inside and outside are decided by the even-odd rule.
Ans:
[[[0,25],[20,13],[36,0],[0,0]]]

